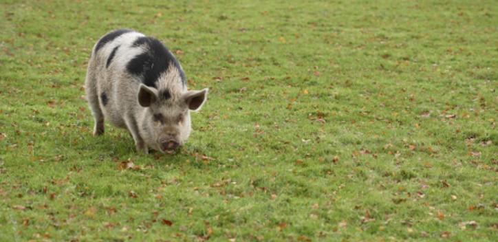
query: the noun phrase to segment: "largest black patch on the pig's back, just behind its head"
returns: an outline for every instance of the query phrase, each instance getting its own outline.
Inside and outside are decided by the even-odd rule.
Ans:
[[[157,88],[155,83],[159,76],[167,72],[171,64],[178,69],[182,84],[185,85],[186,77],[180,63],[160,41],[151,37],[139,37],[131,47],[146,49],[144,53],[135,56],[127,64],[128,72],[141,76],[144,85]]]

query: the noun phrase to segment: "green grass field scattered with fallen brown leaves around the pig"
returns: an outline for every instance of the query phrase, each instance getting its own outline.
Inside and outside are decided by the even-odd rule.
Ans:
[[[496,1],[1,1],[0,241],[497,241]],[[180,154],[93,137],[106,32],[210,88]]]

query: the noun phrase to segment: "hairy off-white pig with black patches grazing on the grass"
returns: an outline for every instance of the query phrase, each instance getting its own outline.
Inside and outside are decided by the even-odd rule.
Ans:
[[[191,133],[191,111],[206,102],[208,88],[188,91],[175,56],[153,37],[114,30],[94,45],[85,80],[94,135],[104,120],[127,129],[138,152],[173,154]]]

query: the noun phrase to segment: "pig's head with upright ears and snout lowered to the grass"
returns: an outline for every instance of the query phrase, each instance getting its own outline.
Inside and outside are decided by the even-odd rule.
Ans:
[[[190,111],[199,111],[208,89],[169,91],[140,85],[138,103],[145,108],[138,129],[150,148],[175,153],[191,133]]]

